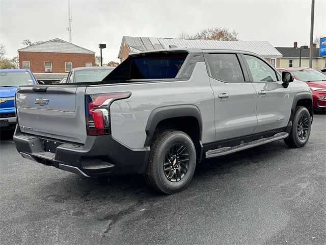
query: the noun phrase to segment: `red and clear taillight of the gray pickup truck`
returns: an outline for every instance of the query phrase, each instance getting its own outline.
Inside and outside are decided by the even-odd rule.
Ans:
[[[130,97],[131,92],[90,94],[85,96],[86,130],[88,135],[110,134],[110,105]]]

